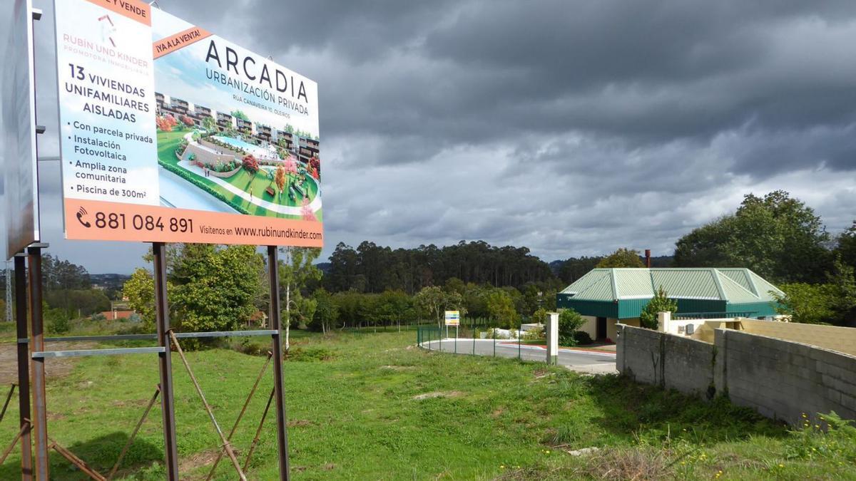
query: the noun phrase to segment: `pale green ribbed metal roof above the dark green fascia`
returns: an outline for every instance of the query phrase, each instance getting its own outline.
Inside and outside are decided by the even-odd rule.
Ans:
[[[651,299],[663,287],[671,299],[724,300],[729,304],[770,302],[776,286],[748,269],[593,269],[562,290],[574,300]]]

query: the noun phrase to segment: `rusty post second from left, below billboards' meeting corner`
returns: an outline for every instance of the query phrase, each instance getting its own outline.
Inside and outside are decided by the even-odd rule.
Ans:
[[[30,284],[30,349],[31,353],[45,350],[45,320],[42,318],[42,247],[27,247],[27,274]],[[45,358],[32,359],[30,378],[33,380],[33,433],[36,443],[36,479],[48,481],[48,413],[45,395]]]

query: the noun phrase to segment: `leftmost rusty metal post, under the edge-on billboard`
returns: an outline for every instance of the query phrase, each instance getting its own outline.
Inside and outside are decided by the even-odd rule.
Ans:
[[[6,288],[9,288],[7,286]],[[23,253],[15,255],[15,324],[18,339],[18,417],[21,426],[21,479],[33,479],[33,441],[30,439],[30,353],[27,332],[27,265]]]

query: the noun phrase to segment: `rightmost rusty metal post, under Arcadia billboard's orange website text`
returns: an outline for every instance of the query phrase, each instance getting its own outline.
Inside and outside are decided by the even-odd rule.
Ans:
[[[279,259],[276,246],[268,246],[268,279],[270,281],[270,329],[273,343],[273,389],[276,399],[276,446],[279,451],[279,478],[289,479],[288,473],[288,431],[285,420],[285,389],[282,382],[282,339],[280,330],[279,303]]]

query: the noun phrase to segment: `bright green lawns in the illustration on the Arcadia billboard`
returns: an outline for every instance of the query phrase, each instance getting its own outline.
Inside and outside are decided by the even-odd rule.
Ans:
[[[184,135],[190,133],[191,130],[189,128],[175,128],[172,132],[162,132],[158,131],[158,161],[160,163],[169,163],[170,165],[178,165],[178,158],[175,157],[175,149],[178,147],[178,144],[181,142],[181,138]],[[272,211],[268,211],[264,207],[259,205],[255,205],[251,203],[247,199],[243,199],[240,196],[235,195],[235,193],[231,193],[221,185],[217,184],[217,182],[211,181],[210,179],[206,179],[205,177],[198,176],[197,181],[202,182],[208,187],[214,189],[217,193],[223,194],[225,199],[229,199],[229,204],[240,209],[244,209],[245,211],[250,212],[253,215],[258,216],[267,216],[267,217],[281,217],[281,218],[300,218],[300,216],[288,216],[286,214],[280,214]],[[229,183],[235,185],[235,187],[239,187],[244,189],[246,192],[249,192],[250,183],[252,182],[253,194],[257,197],[259,195],[262,196],[262,199],[273,202],[274,199],[270,196],[270,194],[265,193],[265,188],[268,187],[270,181],[268,181],[263,175],[256,174],[253,176],[253,179],[250,179],[249,174],[241,170],[238,174],[233,175],[232,178],[226,179]],[[189,182],[188,182],[189,183]],[[309,189],[311,191],[312,199],[318,193],[318,186],[313,181],[308,182]],[[189,187],[189,186],[188,186]],[[290,202],[287,196],[283,196],[282,205],[300,205],[300,199],[296,203]],[[318,219],[322,218],[322,210],[318,210],[315,212],[316,217]]]

